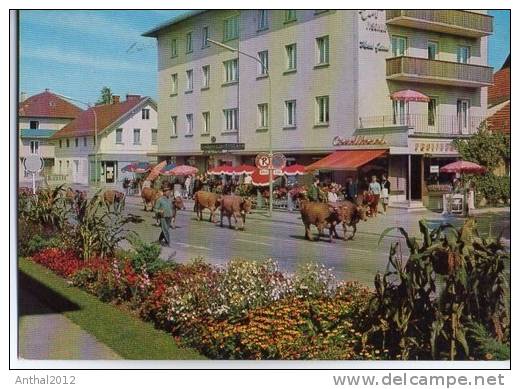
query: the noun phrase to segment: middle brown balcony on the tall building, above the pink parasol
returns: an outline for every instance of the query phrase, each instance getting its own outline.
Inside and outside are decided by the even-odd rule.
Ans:
[[[493,68],[402,56],[387,58],[386,78],[395,81],[480,88],[493,83]]]

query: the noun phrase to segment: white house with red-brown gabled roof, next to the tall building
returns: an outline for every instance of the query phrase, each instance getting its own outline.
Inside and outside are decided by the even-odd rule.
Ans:
[[[66,182],[116,185],[128,174],[125,166],[157,160],[150,156],[157,154],[155,102],[139,95],[112,98],[110,104],[83,111],[52,136],[55,174],[66,175]]]

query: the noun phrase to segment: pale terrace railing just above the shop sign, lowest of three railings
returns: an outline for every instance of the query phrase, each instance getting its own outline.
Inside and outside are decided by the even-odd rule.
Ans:
[[[486,121],[483,116],[379,115],[359,118],[359,128],[409,127],[413,134],[440,136],[471,135]]]

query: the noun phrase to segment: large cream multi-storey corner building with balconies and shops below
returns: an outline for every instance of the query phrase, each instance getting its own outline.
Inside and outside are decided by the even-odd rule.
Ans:
[[[177,17],[144,34],[158,42],[159,159],[252,163],[271,143],[308,165],[341,151],[321,170],[340,181],[386,171],[394,202],[410,205],[457,157],[452,139],[486,116],[492,20],[463,10]]]

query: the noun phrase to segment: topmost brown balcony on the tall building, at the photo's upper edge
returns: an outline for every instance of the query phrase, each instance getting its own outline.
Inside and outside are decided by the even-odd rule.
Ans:
[[[493,33],[492,16],[461,10],[386,10],[386,23],[470,38],[480,38]]]

